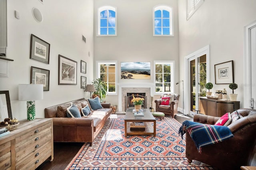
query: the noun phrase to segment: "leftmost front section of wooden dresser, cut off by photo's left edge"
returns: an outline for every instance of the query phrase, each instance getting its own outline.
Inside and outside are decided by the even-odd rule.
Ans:
[[[0,145],[0,170],[6,170],[11,166],[11,142]]]

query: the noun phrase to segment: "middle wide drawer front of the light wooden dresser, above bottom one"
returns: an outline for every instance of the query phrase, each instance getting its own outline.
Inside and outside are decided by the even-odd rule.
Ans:
[[[39,150],[46,142],[51,141],[51,127],[44,129],[41,134],[15,148],[16,162],[26,157],[31,152]]]

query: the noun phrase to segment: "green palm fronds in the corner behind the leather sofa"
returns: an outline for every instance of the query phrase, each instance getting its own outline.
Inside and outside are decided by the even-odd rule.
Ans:
[[[96,92],[93,93],[93,98],[99,96],[100,100],[102,100],[106,97],[107,88],[105,83],[106,82],[102,81],[100,78],[92,81],[92,84],[94,85],[94,88],[96,90]]]

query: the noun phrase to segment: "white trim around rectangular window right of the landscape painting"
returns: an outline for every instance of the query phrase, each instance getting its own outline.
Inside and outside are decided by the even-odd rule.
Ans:
[[[157,64],[170,64],[171,65],[171,92],[169,93],[174,93],[174,76],[175,76],[175,73],[174,73],[174,66],[175,66],[175,61],[154,61],[154,95],[160,95],[160,94],[163,94],[163,93],[167,93],[167,92],[156,92],[156,63]]]

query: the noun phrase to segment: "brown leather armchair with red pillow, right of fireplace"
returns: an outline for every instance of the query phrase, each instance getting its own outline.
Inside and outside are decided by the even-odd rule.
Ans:
[[[161,105],[162,98],[163,97],[169,97],[174,96],[173,101],[170,103],[170,105]],[[178,103],[179,103],[179,94],[162,94],[160,96],[160,99],[155,100],[156,103],[156,111],[163,112],[164,114],[170,115],[171,117],[174,117],[178,113]]]

